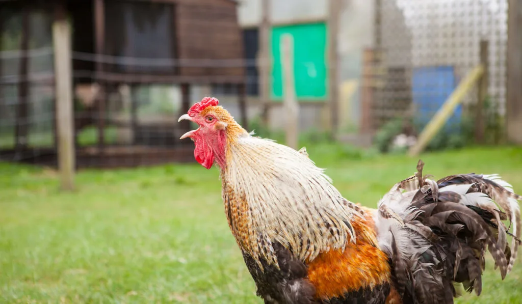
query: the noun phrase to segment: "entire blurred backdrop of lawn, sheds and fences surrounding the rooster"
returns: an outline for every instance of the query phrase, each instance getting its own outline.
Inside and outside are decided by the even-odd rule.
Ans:
[[[258,302],[179,140],[204,96],[363,204],[419,153],[521,191],[520,29],[517,0],[0,0],[0,299]]]

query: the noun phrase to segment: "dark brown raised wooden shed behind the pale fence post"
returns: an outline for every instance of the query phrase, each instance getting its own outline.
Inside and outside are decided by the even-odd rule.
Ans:
[[[192,160],[192,146],[179,137],[189,129],[177,123],[193,102],[194,85],[232,84],[238,87],[242,123],[245,113],[245,64],[241,29],[232,0],[12,0],[3,1],[0,34],[7,18],[20,18],[19,78],[13,147],[1,147],[0,159],[56,163],[57,139],[52,147],[29,144],[29,87],[36,82],[52,84],[54,73],[31,77],[27,52],[33,40],[31,18],[38,13],[49,33],[56,20],[69,20],[72,28],[70,52],[75,92],[74,138],[77,166],[134,166],[168,161]],[[43,17],[42,17],[43,16]],[[0,36],[2,37],[2,36]],[[50,36],[52,39],[52,36]],[[0,40],[1,42],[2,40]],[[52,45],[52,41],[50,42]],[[2,46],[0,44],[0,51]],[[0,80],[2,78],[0,57]],[[25,68],[24,68],[25,67]],[[5,69],[4,69],[5,70]],[[177,113],[160,118],[138,119],[137,102],[129,99],[129,115],[115,115],[122,102],[111,96],[122,87],[176,86],[182,105]],[[0,81],[0,97],[7,84]],[[120,94],[121,95],[121,94]],[[198,96],[199,98],[203,96]],[[0,98],[0,103],[2,103]],[[54,124],[56,124],[56,116]],[[96,140],[82,144],[78,134],[96,129]],[[131,139],[125,144],[108,140],[109,128],[128,128]]]

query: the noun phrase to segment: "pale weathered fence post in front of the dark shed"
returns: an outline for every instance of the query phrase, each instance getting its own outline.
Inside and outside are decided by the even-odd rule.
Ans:
[[[56,16],[53,23],[56,129],[58,133],[58,168],[62,189],[73,190],[75,149],[71,30],[64,5],[63,1],[56,3]]]

